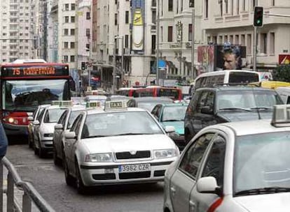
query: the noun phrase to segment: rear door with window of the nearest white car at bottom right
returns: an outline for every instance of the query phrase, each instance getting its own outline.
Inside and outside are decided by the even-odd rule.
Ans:
[[[196,183],[198,167],[214,133],[205,133],[184,150],[181,162],[170,179],[170,199],[174,212],[189,211],[188,199]]]

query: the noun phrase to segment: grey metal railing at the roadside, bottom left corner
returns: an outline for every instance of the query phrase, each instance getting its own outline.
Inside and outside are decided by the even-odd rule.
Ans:
[[[31,212],[32,202],[36,208],[39,209],[39,211],[55,212],[55,210],[46,202],[46,200],[41,197],[39,192],[35,190],[32,183],[22,181],[15,167],[6,157],[2,158],[0,163],[0,212],[4,210],[4,206],[6,206],[6,211],[8,212]],[[6,189],[4,189],[4,166],[8,170]],[[22,207],[15,199],[15,186],[23,191]],[[6,193],[7,196],[5,199],[6,201],[4,201],[4,193]]]

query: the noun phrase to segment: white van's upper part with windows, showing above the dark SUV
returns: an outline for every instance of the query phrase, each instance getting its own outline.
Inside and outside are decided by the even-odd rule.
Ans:
[[[217,70],[198,75],[194,81],[194,89],[214,84],[240,84],[259,82],[258,72],[252,70]]]

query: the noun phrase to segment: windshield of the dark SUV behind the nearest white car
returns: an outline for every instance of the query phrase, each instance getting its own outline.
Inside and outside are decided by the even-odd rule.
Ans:
[[[283,104],[275,91],[268,90],[235,90],[219,92],[217,97],[218,109],[244,108],[244,109],[272,109],[274,105]]]

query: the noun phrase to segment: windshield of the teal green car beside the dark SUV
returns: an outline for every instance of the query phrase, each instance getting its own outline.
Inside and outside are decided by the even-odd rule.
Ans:
[[[164,107],[161,121],[184,121],[186,105]]]

